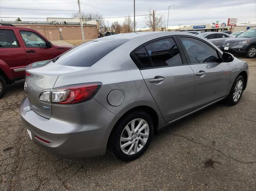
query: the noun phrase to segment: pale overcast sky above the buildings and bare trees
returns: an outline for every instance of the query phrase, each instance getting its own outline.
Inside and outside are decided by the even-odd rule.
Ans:
[[[133,0],[80,0],[82,12],[98,12],[102,17],[133,16]],[[256,0],[135,0],[136,15],[148,14],[156,10],[156,14],[165,16],[167,24],[168,6],[170,8],[169,26],[211,24],[219,20],[227,22],[228,18],[238,18],[238,24],[250,22],[256,24]],[[71,11],[18,10],[3,8],[52,9]],[[102,10],[104,9],[104,10]],[[77,0],[0,0],[0,19],[15,20],[2,17],[28,17],[22,21],[46,21],[46,17],[70,18],[72,10],[78,10]],[[133,19],[133,18],[132,18]],[[124,18],[106,18],[109,25],[114,21],[120,23]],[[145,16],[136,17],[137,27],[144,28]],[[106,22],[107,25],[107,22]]]

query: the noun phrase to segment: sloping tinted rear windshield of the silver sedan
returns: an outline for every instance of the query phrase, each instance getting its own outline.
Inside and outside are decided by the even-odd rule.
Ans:
[[[81,44],[60,55],[53,62],[66,66],[89,67],[128,39],[102,39]]]

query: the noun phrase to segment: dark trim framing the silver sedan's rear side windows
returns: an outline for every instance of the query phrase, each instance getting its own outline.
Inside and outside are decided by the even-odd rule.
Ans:
[[[152,62],[152,59],[150,57],[150,55],[148,54],[148,51],[146,49],[146,45],[154,42],[154,41],[158,41],[158,40],[162,40],[162,39],[168,39],[168,38],[172,38],[174,40],[174,43],[176,44],[179,52],[180,52],[180,58],[181,58],[181,61],[182,61],[182,64],[180,65],[172,65],[172,66],[159,66],[159,67],[154,67],[154,64]],[[146,53],[150,59],[150,62],[151,62],[151,65],[152,67],[147,67],[147,68],[144,68],[144,66],[142,65],[142,63],[139,61],[139,59],[136,57],[136,55],[134,54],[137,50],[139,50],[140,48],[144,47],[144,49],[146,50]],[[164,37],[159,37],[159,38],[156,38],[156,39],[152,39],[150,41],[147,41],[145,43],[143,43],[142,45],[136,47],[133,51],[130,52],[130,57],[132,59],[132,61],[134,61],[135,65],[138,67],[138,69],[140,70],[145,70],[145,69],[154,69],[154,68],[166,68],[166,67],[175,67],[175,66],[183,66],[183,65],[188,65],[187,63],[187,60],[186,60],[186,57],[184,55],[184,52],[182,50],[182,47],[180,46],[180,43],[176,37],[176,35],[171,35],[171,36],[164,36]],[[139,67],[140,66],[140,67]]]

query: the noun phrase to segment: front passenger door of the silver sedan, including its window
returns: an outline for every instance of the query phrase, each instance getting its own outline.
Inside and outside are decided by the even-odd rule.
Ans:
[[[179,36],[188,64],[195,74],[194,109],[223,98],[228,94],[230,67],[220,62],[218,51],[206,41]],[[196,47],[191,51],[190,47]]]

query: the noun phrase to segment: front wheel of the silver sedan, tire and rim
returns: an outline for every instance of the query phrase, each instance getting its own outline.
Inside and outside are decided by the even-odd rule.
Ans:
[[[235,105],[239,102],[243,91],[244,91],[244,77],[239,75],[236,80],[234,81],[234,84],[232,85],[232,88],[230,90],[230,93],[228,97],[226,98],[226,102],[229,105]]]

